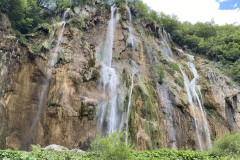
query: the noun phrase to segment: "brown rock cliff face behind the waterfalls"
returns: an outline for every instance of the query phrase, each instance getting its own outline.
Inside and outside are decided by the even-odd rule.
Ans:
[[[133,12],[134,6],[130,10]],[[162,49],[163,30],[134,20],[134,15],[133,47],[128,41],[131,25],[128,12],[125,8],[118,12],[112,66],[124,92],[123,113],[130,97],[132,61],[138,66],[133,76],[128,121],[134,148],[199,149],[194,115],[178,67],[182,66],[187,77],[193,79],[193,73],[185,67],[187,56],[168,37],[167,45],[175,61],[169,60]],[[39,27],[33,34],[19,36],[11,30],[7,17],[0,14],[3,22],[0,24],[1,148],[28,149],[31,144],[58,144],[83,150],[90,147],[99,129],[99,104],[106,98],[99,87],[102,65],[97,53],[101,54],[101,46],[106,42],[110,15],[110,8],[75,8],[66,15],[65,28],[55,23]],[[48,76],[49,57],[56,52],[62,28],[56,64]],[[240,88],[212,62],[195,57],[194,64],[200,74],[198,95],[203,97],[211,139],[231,130],[240,132]],[[201,111],[196,105],[193,107],[199,135],[203,137],[202,146],[206,149]]]

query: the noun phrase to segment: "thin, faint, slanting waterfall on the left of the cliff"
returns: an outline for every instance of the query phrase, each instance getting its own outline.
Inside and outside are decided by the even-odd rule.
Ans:
[[[37,111],[36,111],[36,115],[34,116],[33,118],[33,122],[29,128],[29,130],[27,131],[27,134],[25,136],[25,143],[27,145],[27,147],[29,145],[31,145],[31,141],[32,141],[32,138],[34,138],[34,130],[37,129],[39,123],[40,123],[40,119],[41,119],[41,115],[42,115],[42,111],[43,111],[43,107],[44,107],[44,104],[45,104],[45,101],[47,99],[47,96],[48,96],[48,90],[49,90],[49,85],[50,85],[50,80],[51,80],[51,77],[52,77],[52,68],[54,67],[55,63],[56,63],[56,60],[57,60],[57,56],[58,56],[58,51],[59,51],[59,46],[61,45],[62,43],[62,37],[63,37],[63,32],[64,32],[64,29],[65,29],[65,25],[66,25],[66,15],[67,13],[70,11],[70,8],[68,8],[65,12],[64,12],[64,15],[63,15],[63,18],[62,18],[62,21],[59,22],[58,24],[60,24],[62,26],[62,29],[59,33],[59,36],[58,36],[58,39],[57,39],[57,45],[56,45],[56,48],[53,52],[52,55],[49,56],[49,59],[48,59],[48,64],[47,64],[47,71],[46,71],[46,79],[44,80],[44,85],[43,87],[40,89],[40,94],[39,94],[39,101],[38,101],[38,104],[37,104]]]

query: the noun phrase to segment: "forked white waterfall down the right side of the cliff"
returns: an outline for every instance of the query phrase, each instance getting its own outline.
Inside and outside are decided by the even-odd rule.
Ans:
[[[203,110],[203,105],[202,105],[202,95],[201,95],[201,89],[200,86],[197,85],[197,79],[199,78],[199,75],[197,73],[197,70],[195,68],[195,65],[192,63],[194,61],[194,56],[189,55],[184,53],[181,49],[176,48],[177,51],[181,52],[182,54],[186,55],[189,59],[189,62],[187,62],[187,66],[190,69],[190,71],[193,73],[194,78],[189,81],[186,73],[184,72],[184,70],[182,69],[182,66],[173,58],[173,52],[171,47],[168,44],[168,41],[171,41],[171,36],[169,34],[166,33],[165,30],[163,30],[163,35],[162,35],[162,40],[161,40],[161,48],[158,47],[158,45],[156,45],[156,47],[158,48],[158,50],[160,50],[163,55],[171,62],[174,62],[176,64],[178,64],[180,71],[183,75],[184,78],[184,86],[187,92],[187,96],[188,96],[188,103],[191,107],[192,110],[192,114],[193,114],[193,119],[194,119],[194,125],[195,125],[195,129],[196,129],[196,134],[197,134],[197,141],[198,141],[198,145],[199,145],[199,149],[203,150],[203,145],[202,145],[202,141],[204,141],[203,136],[200,134],[200,120],[197,119],[196,116],[196,109],[195,107],[198,106],[201,112],[201,116],[203,119],[203,132],[205,135],[205,139],[206,139],[206,143],[207,143],[207,149],[210,149],[212,147],[212,142],[211,142],[211,137],[210,137],[210,131],[208,128],[208,124],[207,124],[207,119],[206,119],[206,114]],[[199,92],[200,96],[198,95],[197,91]],[[171,125],[170,125],[171,126]]]

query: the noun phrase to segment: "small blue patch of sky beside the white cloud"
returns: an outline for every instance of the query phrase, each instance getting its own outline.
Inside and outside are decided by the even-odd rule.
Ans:
[[[240,0],[218,0],[221,10],[233,10],[240,8]]]

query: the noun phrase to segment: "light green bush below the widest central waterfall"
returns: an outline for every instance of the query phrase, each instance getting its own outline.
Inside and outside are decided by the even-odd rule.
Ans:
[[[131,158],[133,149],[126,145],[125,136],[125,132],[113,133],[103,138],[98,134],[91,147],[101,160],[127,160]]]

